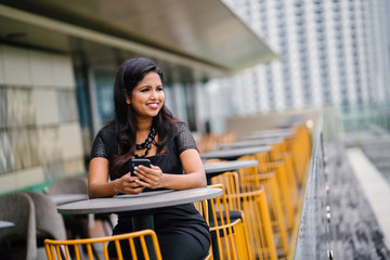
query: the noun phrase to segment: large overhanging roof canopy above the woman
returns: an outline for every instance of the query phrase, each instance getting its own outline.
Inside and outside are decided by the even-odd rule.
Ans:
[[[235,73],[275,56],[220,0],[0,0],[0,3],[120,39],[123,44],[133,42],[134,50],[142,46],[146,51],[158,50],[224,73]],[[79,31],[72,35],[75,36],[87,38],[88,34]],[[88,40],[93,41],[91,37]]]

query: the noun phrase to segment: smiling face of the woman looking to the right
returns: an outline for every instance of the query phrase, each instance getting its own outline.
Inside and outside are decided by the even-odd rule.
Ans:
[[[136,113],[136,117],[155,117],[161,109],[165,100],[161,79],[158,74],[151,72],[132,90],[131,98],[126,102]]]

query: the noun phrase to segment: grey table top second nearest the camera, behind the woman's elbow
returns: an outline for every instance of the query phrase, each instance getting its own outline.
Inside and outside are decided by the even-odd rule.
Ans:
[[[257,160],[229,160],[204,164],[206,174],[216,174],[257,166]]]

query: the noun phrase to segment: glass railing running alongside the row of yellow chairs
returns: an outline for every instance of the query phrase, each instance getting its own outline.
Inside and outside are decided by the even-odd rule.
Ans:
[[[327,172],[324,154],[323,115],[313,134],[313,148],[306,183],[299,231],[296,237],[294,259],[332,259],[329,218],[327,203]],[[324,236],[325,234],[325,236]]]

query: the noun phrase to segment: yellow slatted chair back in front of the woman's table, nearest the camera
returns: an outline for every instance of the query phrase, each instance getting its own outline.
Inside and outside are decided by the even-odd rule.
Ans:
[[[152,240],[151,246],[146,244],[146,239]],[[44,249],[48,256],[48,260],[55,259],[94,259],[92,253],[92,245],[102,247],[102,257],[108,260],[108,250],[107,246],[109,242],[115,243],[115,248],[117,252],[117,259],[122,260],[122,243],[128,243],[132,259],[139,259],[139,256],[143,256],[142,259],[151,259],[154,257],[157,260],[161,260],[161,252],[157,240],[157,235],[153,230],[143,230],[131,232],[128,234],[113,235],[113,236],[104,236],[98,238],[81,238],[81,239],[68,239],[68,240],[53,240],[46,239],[44,240]],[[140,243],[140,247],[135,244]],[[83,247],[87,248],[87,252],[83,251]],[[150,251],[154,251],[154,253],[150,255]],[[74,257],[70,255],[74,253]],[[87,256],[84,256],[87,255]]]

